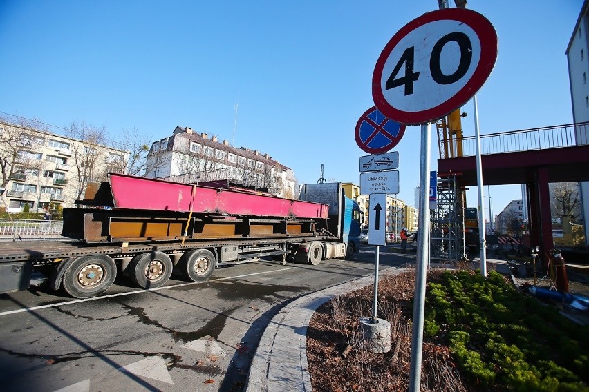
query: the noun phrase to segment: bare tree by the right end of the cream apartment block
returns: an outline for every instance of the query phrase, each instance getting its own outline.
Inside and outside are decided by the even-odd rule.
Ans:
[[[101,182],[106,179],[106,170],[100,170],[99,159],[104,159],[106,146],[106,126],[96,128],[84,121],[73,121],[66,134],[78,143],[71,146],[73,163],[76,169],[76,199],[81,199],[88,182]]]

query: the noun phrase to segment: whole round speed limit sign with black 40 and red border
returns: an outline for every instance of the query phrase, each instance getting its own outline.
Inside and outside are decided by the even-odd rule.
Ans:
[[[471,99],[496,59],[497,33],[483,15],[467,8],[429,12],[382,50],[372,79],[375,106],[400,124],[434,121]]]

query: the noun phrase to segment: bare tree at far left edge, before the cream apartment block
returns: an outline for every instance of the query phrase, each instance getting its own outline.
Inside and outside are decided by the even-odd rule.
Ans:
[[[0,117],[1,186],[6,186],[13,177],[26,177],[30,172],[37,172],[43,164],[37,151],[45,141],[35,133],[37,130],[46,131],[46,127],[39,129],[37,124],[40,123],[36,120],[15,118],[16,124],[10,124]]]

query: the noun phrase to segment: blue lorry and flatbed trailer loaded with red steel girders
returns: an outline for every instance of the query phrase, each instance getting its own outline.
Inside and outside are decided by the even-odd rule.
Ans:
[[[101,295],[118,274],[141,288],[173,271],[205,281],[215,268],[272,257],[317,265],[359,250],[364,215],[339,183],[308,184],[299,200],[227,182],[181,184],[111,173],[64,208],[67,241],[0,244],[0,293],[41,273],[54,290]]]

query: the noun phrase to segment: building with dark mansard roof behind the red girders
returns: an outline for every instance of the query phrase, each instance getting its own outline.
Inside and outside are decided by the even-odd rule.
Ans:
[[[184,183],[228,180],[281,197],[296,195],[294,173],[270,155],[180,126],[151,145],[145,177]]]

